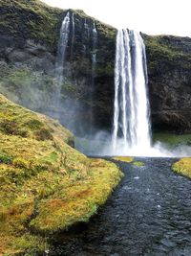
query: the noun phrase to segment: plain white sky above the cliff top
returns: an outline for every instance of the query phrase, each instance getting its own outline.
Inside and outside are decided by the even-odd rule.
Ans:
[[[148,35],[191,37],[191,0],[41,0],[53,7],[81,9],[117,28]]]

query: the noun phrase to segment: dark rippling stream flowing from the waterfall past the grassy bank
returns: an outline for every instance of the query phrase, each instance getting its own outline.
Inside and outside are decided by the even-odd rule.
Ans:
[[[137,160],[145,166],[118,163],[125,176],[107,204],[49,255],[191,255],[191,180],[171,171],[175,159]]]

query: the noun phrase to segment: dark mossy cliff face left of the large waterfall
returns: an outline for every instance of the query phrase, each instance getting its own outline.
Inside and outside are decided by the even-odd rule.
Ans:
[[[88,127],[90,115],[96,116],[94,127],[111,127],[116,30],[84,12],[53,9],[37,0],[6,0],[0,5],[1,93],[16,103],[57,117],[76,133]],[[54,67],[61,23],[67,12],[74,16],[74,35],[71,22],[58,109],[53,105]],[[92,92],[93,54],[96,71]]]

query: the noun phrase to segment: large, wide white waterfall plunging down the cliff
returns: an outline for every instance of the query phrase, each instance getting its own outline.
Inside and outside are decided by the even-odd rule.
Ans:
[[[151,147],[145,46],[135,31],[117,32],[113,152]],[[140,153],[141,154],[141,153]]]

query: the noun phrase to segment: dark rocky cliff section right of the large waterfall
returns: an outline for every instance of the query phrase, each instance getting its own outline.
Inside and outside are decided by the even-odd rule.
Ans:
[[[191,130],[191,38],[144,35],[153,128]]]

